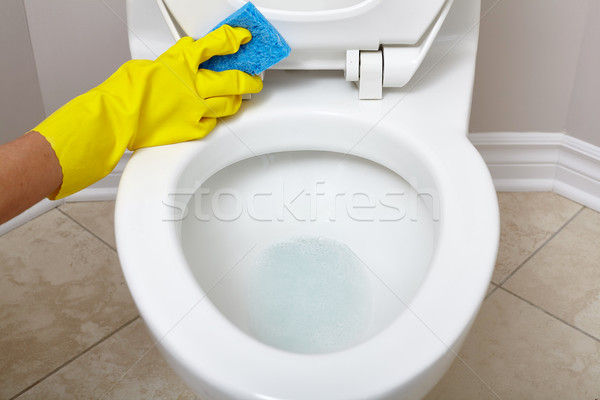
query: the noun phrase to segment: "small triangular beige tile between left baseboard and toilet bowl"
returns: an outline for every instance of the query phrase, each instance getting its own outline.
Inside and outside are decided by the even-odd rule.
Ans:
[[[113,249],[117,248],[114,229],[114,201],[64,203],[59,208],[112,246]]]

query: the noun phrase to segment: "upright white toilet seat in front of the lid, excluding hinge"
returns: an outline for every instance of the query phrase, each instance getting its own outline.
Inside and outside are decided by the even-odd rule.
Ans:
[[[254,0],[285,37],[286,69],[344,69],[347,50],[418,46],[452,0]],[[244,0],[157,0],[183,32],[204,36]]]

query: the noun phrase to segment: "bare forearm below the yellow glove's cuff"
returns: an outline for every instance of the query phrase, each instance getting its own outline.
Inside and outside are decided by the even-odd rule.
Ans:
[[[37,132],[0,146],[0,223],[56,191],[62,170],[50,143]]]

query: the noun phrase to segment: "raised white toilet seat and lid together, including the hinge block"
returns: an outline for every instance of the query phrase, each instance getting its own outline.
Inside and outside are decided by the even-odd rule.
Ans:
[[[202,37],[245,3],[155,1],[176,40]],[[277,6],[260,10],[292,48],[271,69],[343,70],[360,99],[381,99],[384,87],[403,87],[413,77],[453,1],[259,0],[258,6]]]

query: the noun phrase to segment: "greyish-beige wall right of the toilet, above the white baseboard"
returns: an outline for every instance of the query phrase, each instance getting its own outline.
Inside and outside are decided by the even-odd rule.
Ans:
[[[472,132],[567,132],[600,146],[598,3],[482,0]]]

